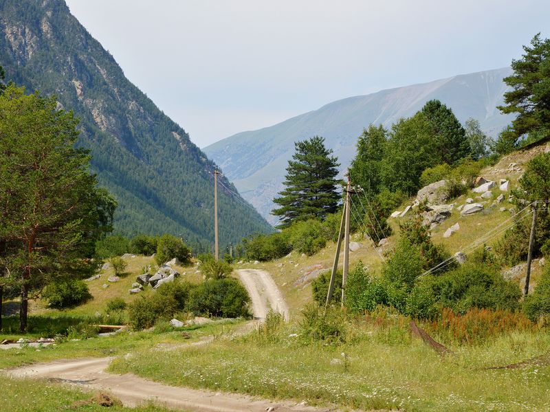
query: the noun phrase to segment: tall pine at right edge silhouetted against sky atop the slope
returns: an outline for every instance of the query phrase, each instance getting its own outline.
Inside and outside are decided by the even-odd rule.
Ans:
[[[517,114],[500,138],[514,145],[522,137],[536,141],[550,136],[550,39],[542,40],[539,33],[523,49],[522,58],[511,62],[514,73],[504,78],[512,87],[504,93],[506,106],[498,106],[503,113]]]

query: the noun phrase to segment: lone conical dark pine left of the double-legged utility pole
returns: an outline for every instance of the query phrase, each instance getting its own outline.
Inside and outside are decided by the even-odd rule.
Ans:
[[[336,192],[338,158],[325,147],[325,139],[315,136],[295,144],[296,152],[289,160],[281,197],[274,203],[281,207],[272,214],[279,216],[278,229],[289,227],[292,222],[308,218],[325,218],[334,211],[340,200]]]

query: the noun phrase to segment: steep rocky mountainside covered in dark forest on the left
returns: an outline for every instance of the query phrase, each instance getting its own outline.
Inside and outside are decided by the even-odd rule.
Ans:
[[[1,1],[0,65],[8,80],[55,94],[80,117],[78,144],[91,150],[100,184],[119,203],[117,231],[169,232],[210,248],[214,163],[126,79],[65,1]],[[242,199],[220,190],[221,245],[270,230]]]

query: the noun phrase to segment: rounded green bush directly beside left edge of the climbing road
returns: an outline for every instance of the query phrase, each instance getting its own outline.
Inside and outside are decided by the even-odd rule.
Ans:
[[[250,297],[236,279],[208,279],[190,290],[186,309],[214,317],[250,317]]]

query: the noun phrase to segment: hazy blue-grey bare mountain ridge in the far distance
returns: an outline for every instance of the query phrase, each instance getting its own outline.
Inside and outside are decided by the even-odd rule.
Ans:
[[[450,106],[462,123],[469,117],[478,119],[485,133],[496,137],[512,119],[496,108],[509,89],[502,81],[509,73],[511,69],[504,67],[337,100],[274,126],[237,133],[203,150],[273,224],[272,198],[281,190],[295,141],[314,135],[325,137],[345,170],[363,128],[371,123],[389,128],[432,99]]]

